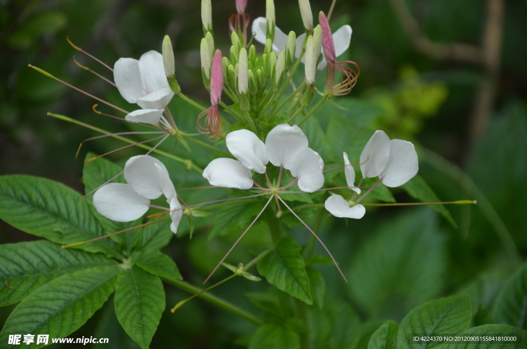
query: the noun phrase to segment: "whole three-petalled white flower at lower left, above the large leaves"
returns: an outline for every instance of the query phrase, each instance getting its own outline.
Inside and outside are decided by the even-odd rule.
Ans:
[[[126,161],[124,179],[128,184],[109,183],[95,192],[93,206],[97,212],[111,220],[129,222],[148,211],[150,200],[164,195],[170,205],[170,229],[175,234],[183,212],[164,164],[148,155],[135,156]]]

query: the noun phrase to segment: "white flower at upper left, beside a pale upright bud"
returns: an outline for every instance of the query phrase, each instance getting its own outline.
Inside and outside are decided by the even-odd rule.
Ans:
[[[159,123],[165,106],[174,96],[165,75],[161,53],[149,51],[139,61],[120,58],[113,66],[113,79],[123,98],[142,108],[126,115],[126,120]]]

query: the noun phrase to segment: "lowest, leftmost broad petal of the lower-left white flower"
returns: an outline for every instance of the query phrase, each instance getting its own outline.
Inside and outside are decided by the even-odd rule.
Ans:
[[[140,196],[128,184],[110,183],[93,195],[93,206],[104,217],[130,222],[148,211],[150,200]]]

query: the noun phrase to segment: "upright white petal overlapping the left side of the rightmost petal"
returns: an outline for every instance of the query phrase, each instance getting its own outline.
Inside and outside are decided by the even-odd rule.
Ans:
[[[384,131],[375,131],[360,154],[360,170],[364,178],[377,177],[390,157],[390,139]]]

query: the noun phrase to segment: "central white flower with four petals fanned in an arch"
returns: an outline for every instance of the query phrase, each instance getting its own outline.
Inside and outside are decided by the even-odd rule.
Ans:
[[[289,170],[302,191],[314,192],[324,185],[324,161],[308,148],[307,137],[297,125],[278,125],[265,143],[249,130],[233,131],[227,134],[226,143],[238,160],[220,158],[209,163],[203,177],[213,186],[250,189],[251,170],[265,173],[269,162]]]

